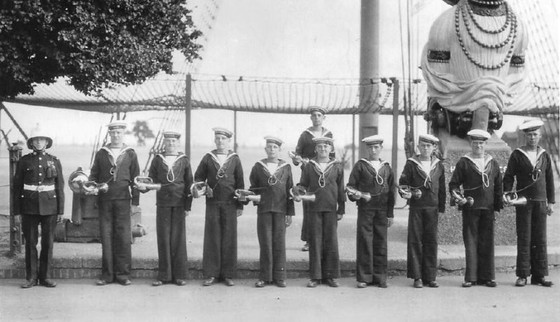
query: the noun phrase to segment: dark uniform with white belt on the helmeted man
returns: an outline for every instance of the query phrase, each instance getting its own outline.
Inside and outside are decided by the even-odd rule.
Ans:
[[[16,163],[13,177],[13,212],[22,214],[25,238],[25,276],[50,278],[57,214],[64,214],[64,177],[56,156],[31,152]],[[41,225],[41,254],[38,226]]]

